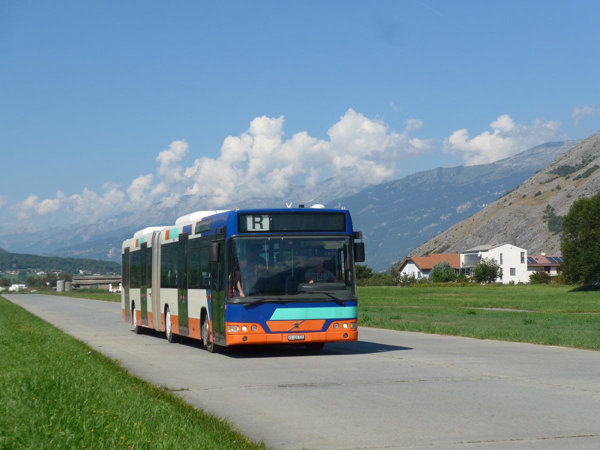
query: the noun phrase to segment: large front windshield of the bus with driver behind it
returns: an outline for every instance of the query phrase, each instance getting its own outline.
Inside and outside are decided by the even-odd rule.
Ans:
[[[233,238],[228,255],[229,297],[242,301],[235,298],[334,288],[352,291],[351,249],[349,238],[337,236]]]

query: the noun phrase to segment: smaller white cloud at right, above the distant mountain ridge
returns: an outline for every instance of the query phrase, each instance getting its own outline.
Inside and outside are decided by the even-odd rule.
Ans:
[[[505,114],[491,122],[491,133],[484,131],[470,138],[466,129],[454,131],[444,139],[443,151],[460,158],[467,166],[492,163],[554,139],[560,125],[544,119],[536,119],[532,125],[517,125]]]

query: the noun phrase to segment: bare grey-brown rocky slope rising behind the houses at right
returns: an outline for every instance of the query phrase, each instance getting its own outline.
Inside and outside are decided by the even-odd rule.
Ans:
[[[600,131],[472,217],[415,248],[410,256],[460,253],[510,242],[529,254],[560,254],[560,218],[575,200],[600,190]]]

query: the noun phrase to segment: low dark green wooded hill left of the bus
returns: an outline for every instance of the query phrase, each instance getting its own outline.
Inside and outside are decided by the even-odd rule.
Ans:
[[[9,253],[0,248],[0,271],[61,272],[70,275],[79,275],[84,272],[86,274],[120,275],[121,265],[116,262],[95,259]]]

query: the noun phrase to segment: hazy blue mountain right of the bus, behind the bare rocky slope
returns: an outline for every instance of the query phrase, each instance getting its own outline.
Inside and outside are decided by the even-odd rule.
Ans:
[[[355,228],[364,232],[367,265],[382,271],[485,208],[578,142],[545,143],[490,164],[414,173],[327,206],[350,209]]]

